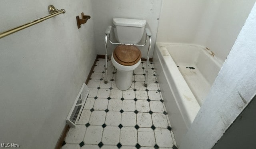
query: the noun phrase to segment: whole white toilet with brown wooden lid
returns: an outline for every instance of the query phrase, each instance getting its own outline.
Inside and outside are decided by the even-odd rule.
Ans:
[[[114,49],[111,61],[116,68],[116,87],[124,91],[131,87],[133,71],[141,62],[140,49],[134,44],[140,42],[146,20],[113,18],[113,25],[116,40],[121,44]]]

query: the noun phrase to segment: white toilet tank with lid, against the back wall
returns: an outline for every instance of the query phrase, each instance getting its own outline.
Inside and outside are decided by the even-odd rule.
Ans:
[[[140,42],[146,20],[113,18],[116,40],[122,44],[138,44]]]

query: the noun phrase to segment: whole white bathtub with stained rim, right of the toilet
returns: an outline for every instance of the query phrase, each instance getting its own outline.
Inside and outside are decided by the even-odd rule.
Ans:
[[[179,146],[222,62],[202,46],[170,43],[156,43],[153,62]]]

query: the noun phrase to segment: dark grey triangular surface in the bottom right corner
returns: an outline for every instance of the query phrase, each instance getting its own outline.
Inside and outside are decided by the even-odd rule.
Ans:
[[[256,97],[246,106],[212,149],[254,149]]]

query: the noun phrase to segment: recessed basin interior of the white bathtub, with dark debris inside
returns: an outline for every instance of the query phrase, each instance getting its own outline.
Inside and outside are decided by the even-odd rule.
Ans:
[[[220,71],[221,62],[201,46],[173,44],[166,49],[201,106]]]

